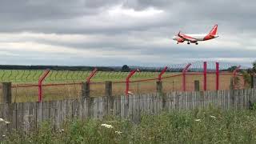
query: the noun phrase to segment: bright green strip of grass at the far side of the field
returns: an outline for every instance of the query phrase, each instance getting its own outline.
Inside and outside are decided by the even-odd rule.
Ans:
[[[44,70],[0,70],[0,82],[38,82],[43,73]],[[85,82],[90,73],[91,71],[51,70],[45,82]],[[158,74],[159,72],[138,72],[133,79],[158,78]],[[173,74],[175,73],[166,73],[163,76]],[[125,81],[128,75],[129,72],[98,71],[92,81]]]

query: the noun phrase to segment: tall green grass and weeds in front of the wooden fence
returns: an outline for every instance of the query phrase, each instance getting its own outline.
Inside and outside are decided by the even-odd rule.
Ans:
[[[113,128],[101,126],[110,124]],[[122,132],[118,134],[116,131]],[[30,134],[6,134],[4,143],[255,143],[255,110],[170,111],[126,119],[72,120],[54,130],[49,122]]]

